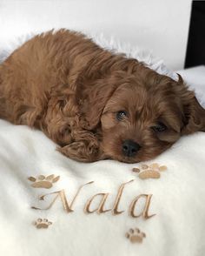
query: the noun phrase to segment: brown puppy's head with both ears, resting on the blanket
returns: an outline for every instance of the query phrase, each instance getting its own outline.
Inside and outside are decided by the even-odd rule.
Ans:
[[[104,154],[122,162],[149,160],[182,134],[205,131],[205,110],[180,76],[116,71],[96,80],[87,100],[90,130],[100,127]]]

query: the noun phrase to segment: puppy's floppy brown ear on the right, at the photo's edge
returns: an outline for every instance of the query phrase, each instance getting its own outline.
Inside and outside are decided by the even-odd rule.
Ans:
[[[205,109],[202,108],[197,98],[195,98],[195,92],[188,91],[187,86],[183,83],[182,77],[180,75],[178,76],[178,84],[181,88],[178,92],[182,98],[184,115],[182,134],[191,134],[195,131],[205,131]]]

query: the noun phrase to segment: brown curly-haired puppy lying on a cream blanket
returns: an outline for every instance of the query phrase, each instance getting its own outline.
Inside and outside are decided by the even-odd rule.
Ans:
[[[205,110],[182,77],[69,30],[33,37],[0,65],[0,118],[41,129],[84,162],[148,160],[182,134],[205,131]]]

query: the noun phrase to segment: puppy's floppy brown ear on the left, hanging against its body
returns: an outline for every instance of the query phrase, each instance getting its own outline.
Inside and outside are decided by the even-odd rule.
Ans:
[[[93,130],[100,124],[102,111],[116,88],[117,85],[106,78],[97,79],[86,86],[80,106],[85,120],[84,128]]]

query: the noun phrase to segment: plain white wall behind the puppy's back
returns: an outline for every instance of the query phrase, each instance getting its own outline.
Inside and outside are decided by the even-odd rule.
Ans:
[[[191,0],[0,0],[0,44],[31,31],[103,32],[182,69]]]

